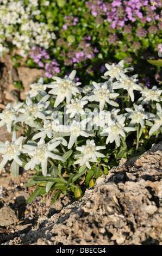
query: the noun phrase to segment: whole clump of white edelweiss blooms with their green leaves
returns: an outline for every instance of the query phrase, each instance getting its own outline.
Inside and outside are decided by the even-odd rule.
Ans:
[[[103,82],[83,87],[72,70],[51,83],[41,77],[31,84],[26,102],[9,103],[0,115],[0,125],[14,131],[12,142],[0,143],[0,170],[11,161],[14,175],[17,166],[35,170],[33,182],[44,181],[46,192],[71,189],[78,195],[84,180],[92,186],[108,173],[114,157],[141,154],[147,137],[157,139],[162,130],[162,90],[139,86],[129,71],[121,60],[105,64]],[[16,129],[23,136],[17,138]]]

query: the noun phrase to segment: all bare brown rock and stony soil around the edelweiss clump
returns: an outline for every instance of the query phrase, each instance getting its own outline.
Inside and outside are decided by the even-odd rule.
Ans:
[[[41,70],[15,69],[6,56],[0,63],[0,112],[10,101],[22,101]],[[13,82],[22,81],[23,88]],[[0,141],[11,135],[0,128]],[[107,176],[98,178],[77,202],[61,195],[26,200],[34,187],[26,188],[32,172],[14,178],[7,164],[0,174],[1,245],[162,245],[162,143],[144,155],[121,160]],[[0,191],[1,197],[1,191]]]

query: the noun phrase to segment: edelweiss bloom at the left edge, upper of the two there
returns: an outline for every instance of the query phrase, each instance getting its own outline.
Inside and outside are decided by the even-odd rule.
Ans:
[[[7,125],[8,132],[11,132],[13,121],[18,117],[18,109],[23,105],[24,103],[14,102],[13,107],[11,107],[11,103],[8,103],[5,109],[0,113],[0,127],[3,125]]]

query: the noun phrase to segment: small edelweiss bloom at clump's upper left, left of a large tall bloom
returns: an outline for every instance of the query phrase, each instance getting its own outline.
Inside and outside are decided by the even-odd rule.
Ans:
[[[27,92],[26,94],[29,94],[30,98],[36,97],[37,95],[41,94],[42,96],[45,96],[47,85],[43,84],[43,77],[41,77],[37,83],[33,83],[30,85],[31,90]]]

